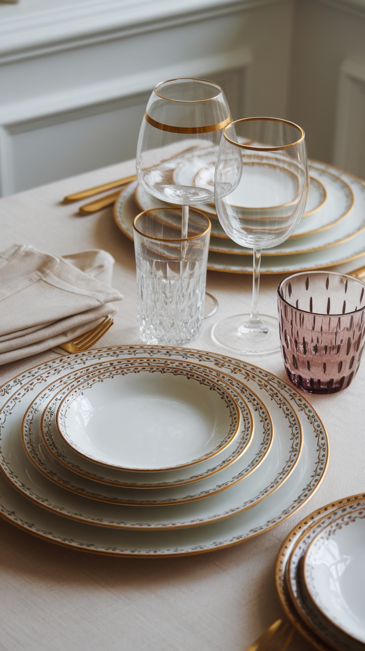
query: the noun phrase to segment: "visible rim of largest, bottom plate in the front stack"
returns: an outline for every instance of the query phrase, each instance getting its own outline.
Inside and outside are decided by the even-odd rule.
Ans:
[[[0,389],[0,404],[10,400],[16,406],[15,394],[24,387],[28,397],[32,390],[41,391],[55,376],[67,374],[73,364],[81,371],[85,365],[101,358],[131,356],[165,356],[169,359],[193,360],[211,368],[223,368],[242,381],[251,378],[258,386],[270,386],[273,392],[286,396],[293,408],[299,409],[303,426],[303,453],[285,484],[258,505],[241,514],[200,527],[176,531],[123,531],[71,521],[32,503],[0,475],[0,514],[24,531],[58,544],[94,553],[116,556],[179,556],[222,549],[258,536],[289,518],[306,503],[325,475],[328,462],[327,434],[318,415],[304,398],[286,382],[238,359],[197,350],[123,346],[103,348],[59,358],[34,367],[9,381]],[[4,424],[4,415],[1,418]],[[18,432],[19,436],[19,432]]]

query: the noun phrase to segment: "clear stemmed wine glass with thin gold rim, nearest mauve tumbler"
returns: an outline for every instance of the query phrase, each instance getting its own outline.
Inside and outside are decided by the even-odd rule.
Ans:
[[[226,234],[253,249],[252,308],[215,324],[215,343],[236,353],[279,350],[278,320],[259,316],[262,249],[286,240],[308,193],[304,132],[293,122],[254,117],[223,129],[215,169],[215,206]]]

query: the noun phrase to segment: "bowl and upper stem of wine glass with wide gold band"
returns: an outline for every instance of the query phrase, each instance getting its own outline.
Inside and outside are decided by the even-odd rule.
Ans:
[[[223,127],[232,120],[224,92],[205,79],[169,79],[155,86],[137,145],[137,176],[158,199],[182,207],[214,199],[215,162]]]

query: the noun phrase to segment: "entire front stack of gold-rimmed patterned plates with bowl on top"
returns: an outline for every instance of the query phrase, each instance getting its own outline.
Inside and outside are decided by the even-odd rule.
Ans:
[[[237,544],[303,506],[327,467],[306,400],[219,354],[101,348],[0,393],[0,513],[69,547],[165,556]]]

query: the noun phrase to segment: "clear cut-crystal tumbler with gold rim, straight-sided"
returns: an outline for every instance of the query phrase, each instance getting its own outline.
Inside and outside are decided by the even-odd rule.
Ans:
[[[195,209],[186,238],[179,208],[154,208],[135,217],[137,322],[147,344],[180,346],[200,333],[210,230],[208,217]]]

